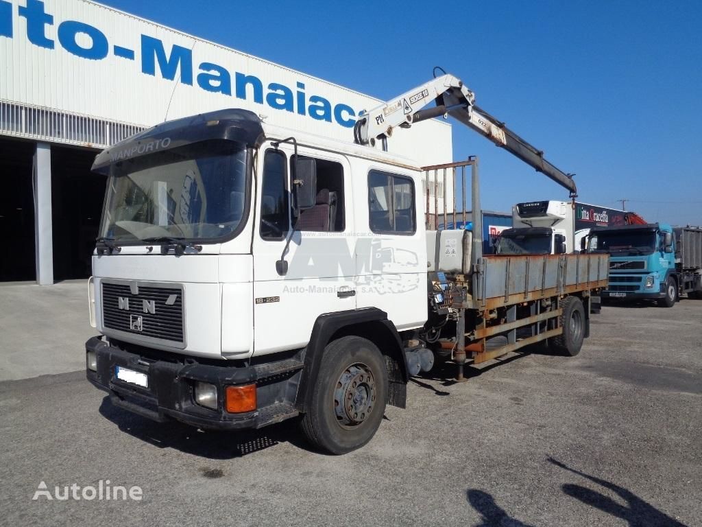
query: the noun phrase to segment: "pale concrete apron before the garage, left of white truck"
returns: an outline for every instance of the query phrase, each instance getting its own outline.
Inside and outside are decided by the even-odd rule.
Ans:
[[[88,282],[0,285],[0,381],[85,367]]]

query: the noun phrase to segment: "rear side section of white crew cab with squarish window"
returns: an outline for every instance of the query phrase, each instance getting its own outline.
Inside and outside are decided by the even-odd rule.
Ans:
[[[418,211],[416,180],[370,169],[357,177],[356,245],[358,306],[388,313],[398,330],[427,316],[427,249]],[[456,248],[461,250],[460,247]]]

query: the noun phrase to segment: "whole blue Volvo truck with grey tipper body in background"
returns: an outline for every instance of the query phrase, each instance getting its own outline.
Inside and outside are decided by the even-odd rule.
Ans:
[[[681,294],[702,297],[702,228],[665,223],[593,228],[588,252],[609,253],[602,299],[654,300],[672,307]]]

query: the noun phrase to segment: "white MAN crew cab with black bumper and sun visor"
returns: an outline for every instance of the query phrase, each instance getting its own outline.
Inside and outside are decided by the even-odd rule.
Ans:
[[[353,327],[390,371],[374,370],[375,388],[364,367],[340,372],[357,398],[340,420],[368,429],[380,398],[404,406],[397,335],[428,318],[422,172],[380,150],[291,135],[219,110],[96,157],[107,193],[91,323],[104,337],[86,344],[87,375],[114,404],[204,428],[294,417],[325,375],[315,344]]]

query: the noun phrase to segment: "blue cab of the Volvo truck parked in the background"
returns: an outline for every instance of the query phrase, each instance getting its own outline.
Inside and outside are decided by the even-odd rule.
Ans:
[[[593,228],[588,252],[609,254],[609,286],[603,299],[657,300],[668,307],[677,301],[680,276],[670,225]]]

